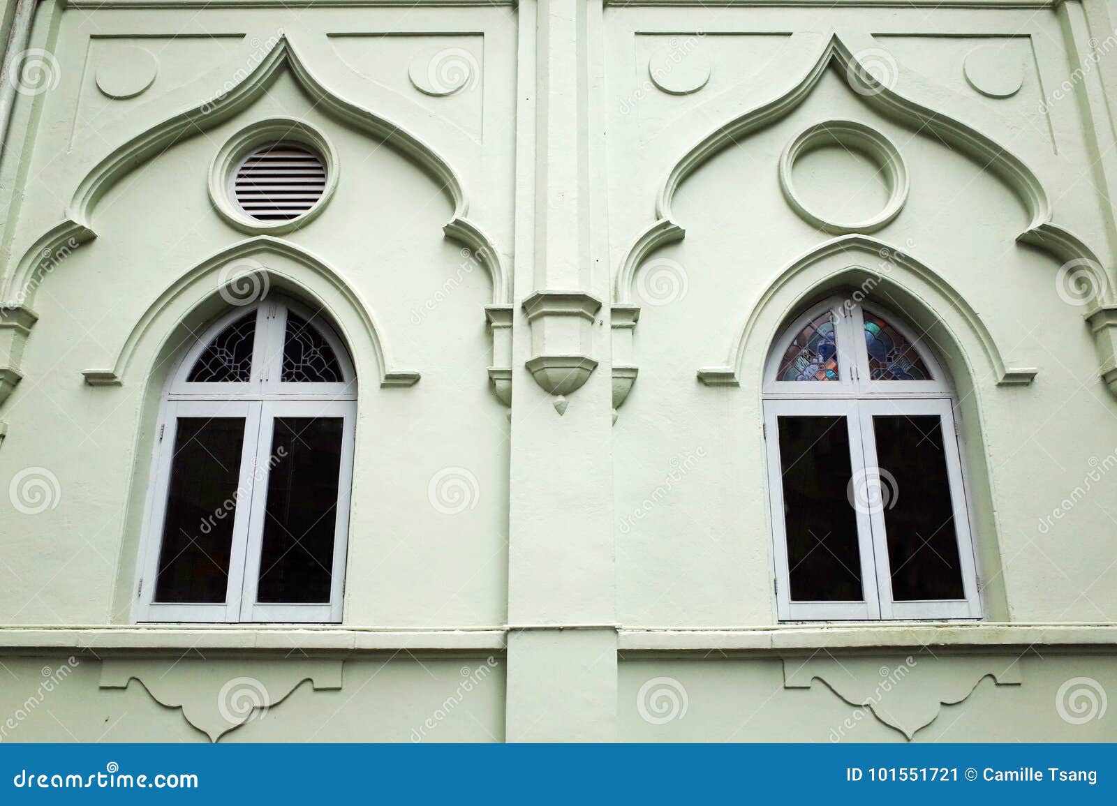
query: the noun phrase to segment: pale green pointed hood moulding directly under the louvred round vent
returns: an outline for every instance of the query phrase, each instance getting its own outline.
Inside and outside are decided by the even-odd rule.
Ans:
[[[268,278],[268,286],[275,285],[275,281],[271,279],[275,278],[275,280],[280,282],[285,281],[288,285],[297,286],[303,294],[312,299],[317,297],[312,289],[307,288],[305,284],[300,282],[297,278],[293,278],[278,269],[268,267],[265,262],[266,257],[261,257],[267,256],[268,253],[288,258],[300,266],[306,267],[317,277],[322,278],[328,286],[333,287],[345,297],[351,308],[361,318],[364,334],[372,343],[380,371],[380,385],[382,387],[412,386],[419,381],[418,372],[397,370],[392,366],[386,347],[380,335],[382,330],[373,320],[370,306],[365,304],[364,299],[357,294],[352,284],[350,284],[343,275],[317,256],[292,243],[290,241],[273,238],[271,236],[257,236],[222,249],[179,277],[154,301],[152,301],[150,306],[147,306],[143,316],[140,317],[139,322],[136,322],[133,326],[131,333],[128,333],[127,338],[125,338],[116,358],[112,362],[112,368],[86,370],[82,373],[85,376],[85,382],[90,386],[120,386],[123,383],[125,372],[128,368],[128,363],[131,362],[132,356],[135,354],[136,347],[152,329],[153,323],[156,320],[160,313],[165,310],[172,301],[183,296],[190,295],[189,304],[190,307],[193,308],[207,298],[210,298],[214,294],[219,292],[221,280],[220,271],[232,261],[252,259],[255,263],[259,263],[257,270]],[[214,281],[211,284],[202,282],[201,287],[199,287],[199,281],[204,280],[207,277],[213,277]],[[340,322],[335,324],[341,327]],[[168,327],[164,328],[164,333],[160,334],[160,338],[165,338],[168,333],[170,333],[170,329],[175,325],[178,325],[176,322],[170,323]],[[343,335],[346,340],[352,344],[355,334],[346,334],[343,328]]]

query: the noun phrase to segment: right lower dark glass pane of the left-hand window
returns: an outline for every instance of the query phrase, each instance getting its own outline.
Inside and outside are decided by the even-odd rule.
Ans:
[[[276,418],[257,601],[330,602],[341,418]]]

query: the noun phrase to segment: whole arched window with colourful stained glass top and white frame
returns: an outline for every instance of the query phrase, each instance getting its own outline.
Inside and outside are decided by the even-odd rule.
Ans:
[[[981,616],[955,416],[899,317],[833,298],[784,330],[764,374],[780,618]]]

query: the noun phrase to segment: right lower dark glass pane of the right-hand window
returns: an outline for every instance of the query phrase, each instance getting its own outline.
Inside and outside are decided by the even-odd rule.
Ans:
[[[892,598],[964,598],[941,418],[873,416],[872,431]]]

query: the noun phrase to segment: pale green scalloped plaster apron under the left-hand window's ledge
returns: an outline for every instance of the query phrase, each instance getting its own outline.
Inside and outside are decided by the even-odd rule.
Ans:
[[[328,659],[106,658],[102,689],[135,680],[155,702],[182,711],[191,726],[217,741],[283,702],[302,683],[340,691],[342,661]]]

